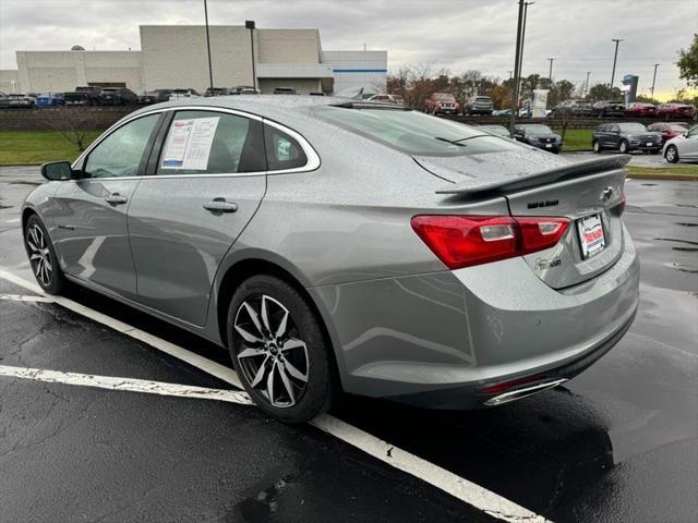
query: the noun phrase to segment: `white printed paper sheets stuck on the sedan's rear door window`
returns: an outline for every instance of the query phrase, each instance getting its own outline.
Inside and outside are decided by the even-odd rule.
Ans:
[[[219,117],[176,120],[163,154],[163,169],[205,171]]]

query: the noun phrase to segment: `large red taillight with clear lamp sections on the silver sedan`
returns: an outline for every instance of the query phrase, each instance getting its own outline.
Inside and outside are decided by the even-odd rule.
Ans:
[[[434,216],[412,218],[412,229],[449,269],[522,256],[557,244],[567,218]]]

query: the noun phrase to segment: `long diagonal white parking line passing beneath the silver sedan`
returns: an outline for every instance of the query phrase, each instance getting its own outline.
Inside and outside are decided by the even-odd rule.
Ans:
[[[67,297],[50,296],[48,294],[45,294],[36,283],[29,282],[24,278],[13,275],[5,269],[0,268],[0,278],[16,285],[23,287],[24,289],[36,292],[58,305],[61,305],[94,321],[106,325],[107,327],[111,327],[112,329],[118,330],[125,336],[143,341],[144,343],[147,343],[155,349],[158,349],[167,354],[170,354],[173,357],[189,363],[190,365],[193,365],[204,370],[205,373],[210,374],[218,379],[221,379],[222,381],[231,384],[240,389],[242,388],[238,375],[231,368],[213,362],[206,357],[200,356],[198,354],[188,351],[186,349],[174,345],[173,343],[163,340],[161,338],[136,329],[131,325],[124,324],[105,314],[98,313],[97,311],[81,305]],[[122,378],[111,379],[122,380]],[[531,512],[530,510],[513,501],[509,501],[508,499],[491,490],[488,490],[484,487],[481,487],[480,485],[469,482],[461,476],[458,476],[438,465],[435,465],[410,452],[395,447],[394,445],[383,441],[375,436],[361,430],[360,428],[354,427],[348,423],[345,423],[334,416],[325,414],[323,416],[316,417],[311,422],[311,425],[335,436],[336,438],[351,445],[352,447],[362,450],[363,452],[383,461],[384,463],[404,471],[407,474],[410,474],[502,521],[516,523],[550,523],[543,516],[538,515],[534,512]]]

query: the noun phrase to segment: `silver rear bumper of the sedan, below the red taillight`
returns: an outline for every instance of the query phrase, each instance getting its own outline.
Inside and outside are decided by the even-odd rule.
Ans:
[[[308,291],[347,392],[479,408],[485,388],[531,376],[569,378],[621,339],[639,301],[639,262],[624,236],[613,267],[559,291],[522,258]]]

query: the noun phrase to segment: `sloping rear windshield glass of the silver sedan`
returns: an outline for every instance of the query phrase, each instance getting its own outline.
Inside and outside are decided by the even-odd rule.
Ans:
[[[320,106],[314,115],[374,142],[416,156],[465,156],[520,148],[477,127],[399,109]]]

